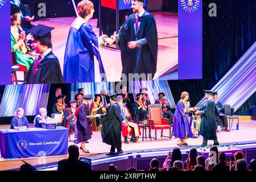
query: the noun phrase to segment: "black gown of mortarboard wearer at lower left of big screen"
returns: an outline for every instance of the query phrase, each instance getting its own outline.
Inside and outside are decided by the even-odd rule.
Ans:
[[[27,84],[59,84],[63,83],[63,76],[59,60],[52,51],[40,60],[34,76],[35,61],[27,72]]]

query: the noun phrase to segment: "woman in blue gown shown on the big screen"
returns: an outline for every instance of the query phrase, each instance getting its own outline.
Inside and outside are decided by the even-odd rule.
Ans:
[[[67,46],[64,56],[64,82],[94,82],[94,56],[98,60],[100,73],[105,75],[105,70],[98,51],[98,39],[93,32],[88,20],[94,13],[93,3],[83,0],[77,5],[79,17],[71,24]],[[103,81],[103,79],[101,80]],[[106,81],[106,80],[105,80]]]

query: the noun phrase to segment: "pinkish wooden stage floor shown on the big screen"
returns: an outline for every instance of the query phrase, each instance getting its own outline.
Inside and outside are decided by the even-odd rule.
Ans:
[[[177,13],[158,12],[152,14],[154,15],[156,20],[159,39],[158,64],[156,69],[156,75],[162,76],[166,75],[167,73],[177,71]],[[52,31],[53,53],[55,53],[60,61],[60,67],[62,72],[68,32],[75,18],[76,17],[40,19],[32,23],[34,25],[44,24],[46,26],[55,27],[55,29]],[[96,35],[98,35],[97,19],[90,19],[89,24],[93,27]],[[120,81],[122,71],[121,53],[119,51],[112,51],[105,48],[100,48],[100,53],[108,81]],[[101,80],[100,72],[98,69],[98,62],[94,61],[94,63],[96,82],[100,82]],[[23,78],[21,72],[17,72],[17,75],[18,80]]]

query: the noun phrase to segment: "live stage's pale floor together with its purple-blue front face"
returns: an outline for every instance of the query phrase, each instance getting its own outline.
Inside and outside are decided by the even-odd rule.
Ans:
[[[0,129],[9,129],[10,125],[1,125]],[[31,127],[33,127],[31,125]],[[230,132],[220,131],[217,133],[220,151],[227,152],[227,155],[232,155],[232,149],[241,150],[245,152],[245,158],[248,160],[256,158],[256,140],[255,131],[256,123],[251,120],[249,116],[240,116],[239,130],[236,130],[236,121],[233,122],[233,128]],[[164,135],[167,135],[168,131],[164,131]],[[148,131],[147,131],[148,133]],[[147,140],[140,137],[137,143],[130,142],[129,144],[124,143],[122,138],[122,150],[124,153],[120,156],[108,157],[105,154],[109,152],[110,147],[102,143],[100,131],[93,132],[92,139],[86,144],[86,148],[90,151],[89,154],[85,154],[80,151],[80,158],[92,159],[92,166],[95,170],[106,170],[108,165],[111,163],[116,164],[118,170],[126,170],[131,166],[135,166],[138,169],[147,169],[150,160],[157,156],[160,161],[160,166],[166,159],[167,152],[173,150],[175,147],[179,147],[183,154],[183,160],[187,158],[188,151],[190,148],[200,146],[203,138],[200,136],[197,139],[190,138],[187,140],[188,146],[177,146],[175,137],[171,140],[167,138],[160,138],[158,133],[158,140]],[[151,131],[152,137],[154,137],[154,131]],[[73,144],[73,135],[71,135],[71,142],[68,145]],[[208,142],[213,144],[213,141]],[[79,146],[79,144],[78,144]],[[209,147],[208,147],[209,148]],[[197,148],[199,152],[204,152],[203,149]],[[62,159],[68,158],[68,155],[56,155],[46,156],[46,158],[19,158],[19,159],[5,159],[0,157],[0,171],[1,170],[18,170],[23,164],[22,160],[32,164],[41,170],[56,170],[57,162]],[[127,160],[127,162],[123,162]],[[133,162],[132,162],[133,161]],[[119,163],[119,165],[118,165]],[[122,164],[122,165],[121,165]]]

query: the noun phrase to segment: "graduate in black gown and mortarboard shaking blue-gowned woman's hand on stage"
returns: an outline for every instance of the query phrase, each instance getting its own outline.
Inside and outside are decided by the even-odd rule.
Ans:
[[[206,147],[208,140],[213,140],[215,146],[219,145],[216,134],[216,121],[218,118],[218,112],[216,104],[212,99],[212,91],[205,90],[205,98],[207,103],[203,107],[194,107],[196,109],[195,114],[200,114],[200,135],[203,136],[203,143],[200,147]]]

